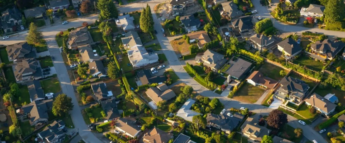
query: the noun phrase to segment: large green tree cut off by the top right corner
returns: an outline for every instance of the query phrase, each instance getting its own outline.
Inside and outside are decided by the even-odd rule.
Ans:
[[[344,18],[344,11],[343,0],[328,0],[325,5],[324,15],[329,22],[336,22]]]

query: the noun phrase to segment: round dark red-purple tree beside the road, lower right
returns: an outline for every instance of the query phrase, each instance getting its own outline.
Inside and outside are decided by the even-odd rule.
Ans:
[[[287,123],[287,115],[283,111],[274,109],[271,112],[269,112],[269,115],[267,117],[267,124],[270,127],[279,129],[285,123]]]

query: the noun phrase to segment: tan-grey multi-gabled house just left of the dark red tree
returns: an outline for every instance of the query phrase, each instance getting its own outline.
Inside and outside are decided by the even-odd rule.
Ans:
[[[248,138],[248,142],[259,143],[264,135],[269,135],[271,130],[259,126],[258,124],[247,124],[242,130],[243,136]]]

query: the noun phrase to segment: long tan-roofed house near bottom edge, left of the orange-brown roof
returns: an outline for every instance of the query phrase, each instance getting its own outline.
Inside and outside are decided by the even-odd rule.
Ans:
[[[139,133],[141,132],[140,127],[136,122],[137,120],[131,117],[119,118],[116,120],[115,128],[131,138],[135,138],[139,136]]]

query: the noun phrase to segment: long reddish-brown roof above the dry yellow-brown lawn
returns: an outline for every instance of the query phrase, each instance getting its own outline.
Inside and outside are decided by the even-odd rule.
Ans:
[[[266,86],[267,88],[274,88],[278,84],[278,81],[264,76],[264,74],[262,74],[259,71],[254,71],[252,74],[249,75],[247,80],[252,80],[255,83]]]

